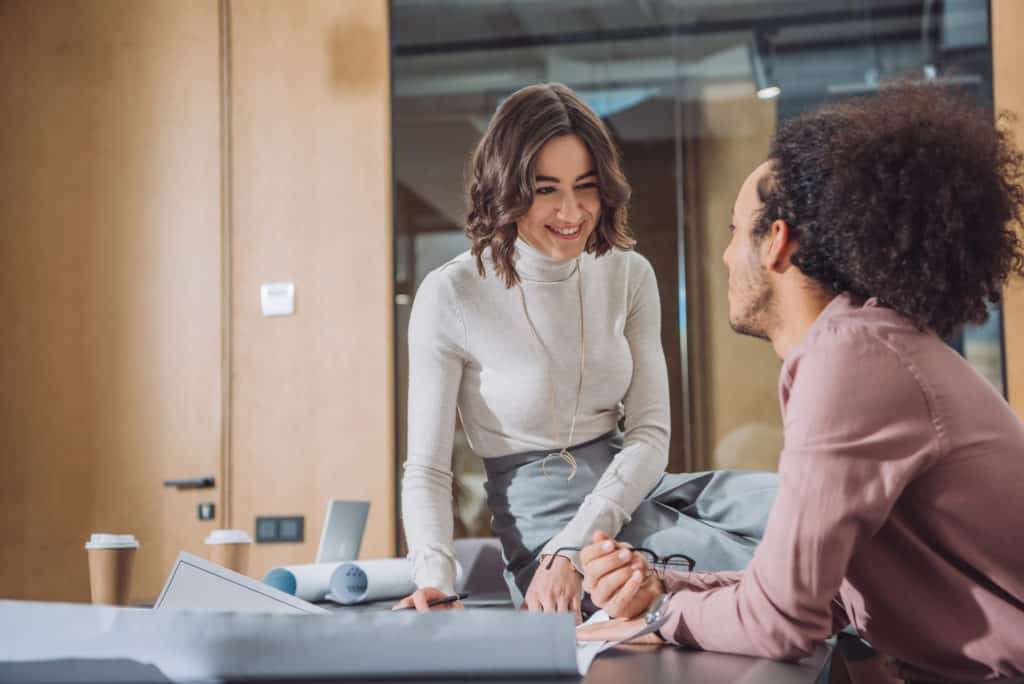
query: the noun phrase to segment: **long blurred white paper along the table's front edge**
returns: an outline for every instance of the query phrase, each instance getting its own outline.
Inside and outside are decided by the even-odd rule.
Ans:
[[[573,623],[571,613],[500,609],[281,614],[0,601],[0,660],[129,658],[175,682],[575,676]]]

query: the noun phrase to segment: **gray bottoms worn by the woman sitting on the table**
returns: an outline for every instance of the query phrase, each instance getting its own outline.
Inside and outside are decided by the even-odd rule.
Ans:
[[[572,519],[622,448],[618,432],[572,446],[578,470],[571,480],[569,465],[557,458],[548,459],[544,475],[548,451],[483,460],[490,528],[502,543],[505,581],[517,606],[541,550]],[[686,554],[696,571],[739,570],[764,536],[776,487],[775,473],[665,473],[616,539],[659,556]]]

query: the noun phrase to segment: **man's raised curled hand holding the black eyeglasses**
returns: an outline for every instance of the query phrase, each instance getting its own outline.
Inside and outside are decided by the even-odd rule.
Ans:
[[[594,532],[593,543],[580,552],[580,560],[584,590],[594,605],[612,617],[642,615],[665,593],[665,586],[643,556],[604,532]]]

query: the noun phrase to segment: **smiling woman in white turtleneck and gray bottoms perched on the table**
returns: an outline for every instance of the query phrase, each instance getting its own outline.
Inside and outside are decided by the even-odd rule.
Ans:
[[[650,263],[597,115],[536,85],[499,108],[473,157],[468,253],[431,271],[409,326],[404,605],[454,593],[458,412],[487,475],[517,604],[583,608],[574,549],[602,530],[701,568],[738,569],[761,538],[770,473],[667,475],[669,382]],[[622,431],[621,431],[622,430]],[[541,561],[544,562],[541,562]]]

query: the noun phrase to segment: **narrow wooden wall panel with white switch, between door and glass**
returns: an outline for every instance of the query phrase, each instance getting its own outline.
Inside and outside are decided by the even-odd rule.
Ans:
[[[301,514],[252,574],[311,562],[330,498],[370,499],[394,553],[387,3],[231,3],[231,520]],[[259,287],[294,281],[296,314]]]

